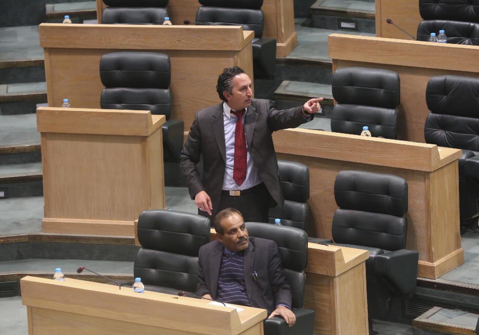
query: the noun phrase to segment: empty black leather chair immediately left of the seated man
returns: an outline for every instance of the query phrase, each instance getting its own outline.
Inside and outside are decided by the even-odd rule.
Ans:
[[[210,219],[170,210],[144,211],[138,218],[134,277],[146,291],[194,293],[198,284],[198,253],[210,242]]]

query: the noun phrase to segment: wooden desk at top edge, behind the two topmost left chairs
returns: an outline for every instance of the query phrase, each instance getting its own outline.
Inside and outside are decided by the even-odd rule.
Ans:
[[[98,22],[101,22],[102,0],[96,0]],[[168,3],[168,14],[173,24],[183,24],[184,20],[195,21],[200,7],[198,0],[172,0]],[[261,7],[264,13],[263,36],[276,38],[276,57],[286,57],[298,44],[294,31],[293,0],[264,0]]]

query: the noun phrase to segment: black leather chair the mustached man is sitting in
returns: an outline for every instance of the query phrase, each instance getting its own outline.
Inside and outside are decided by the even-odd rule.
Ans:
[[[286,280],[291,287],[292,311],[296,324],[289,328],[283,318],[273,317],[264,322],[264,335],[312,335],[314,334],[314,311],[303,309],[306,286],[306,257],[308,236],[305,231],[293,227],[265,225],[246,222],[249,236],[276,242]]]

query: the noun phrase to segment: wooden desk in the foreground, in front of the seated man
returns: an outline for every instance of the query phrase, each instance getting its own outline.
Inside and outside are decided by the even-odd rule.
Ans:
[[[28,334],[262,335],[266,310],[66,278],[24,277]]]

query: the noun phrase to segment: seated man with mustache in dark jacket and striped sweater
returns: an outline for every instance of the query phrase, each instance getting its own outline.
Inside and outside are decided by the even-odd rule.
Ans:
[[[200,249],[198,296],[262,308],[269,317],[296,322],[291,291],[276,243],[248,236],[241,213],[227,208],[213,222],[219,240]]]

